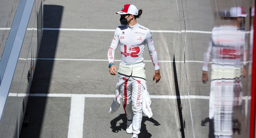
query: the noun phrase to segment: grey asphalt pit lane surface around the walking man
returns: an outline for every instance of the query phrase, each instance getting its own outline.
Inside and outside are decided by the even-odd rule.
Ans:
[[[115,12],[126,3],[126,1],[45,0],[44,28],[115,29],[120,24],[119,15]],[[154,4],[155,1],[133,1],[132,3],[139,9],[143,9],[138,22],[150,30],[179,29],[176,27],[179,21],[172,20],[178,19],[176,1],[162,0],[157,5]],[[172,14],[159,16],[161,13]],[[173,17],[170,18],[170,16]],[[107,50],[113,33],[44,30],[38,56],[42,59],[37,60],[30,93],[113,95],[117,76],[109,75],[107,61],[44,60],[45,58],[107,59]],[[159,32],[152,32],[152,34],[158,59],[172,61],[173,40],[176,35]],[[115,59],[119,60],[118,51],[120,48],[117,49]],[[144,58],[150,61],[147,48],[145,48]],[[119,63],[119,61],[115,62],[116,65]],[[171,72],[172,62],[160,62],[162,78],[157,84],[152,81],[154,72],[152,62],[145,62],[145,64],[150,95],[175,96]],[[73,95],[29,97],[26,110],[30,112],[29,126],[22,127],[20,137],[71,138],[72,135],[84,138],[131,137],[131,134],[125,132],[126,117],[122,107],[115,114],[108,113],[113,98],[85,97],[84,101],[80,98],[79,103],[74,103],[75,100],[72,98],[74,98]],[[143,117],[140,138],[181,137],[176,99],[153,99],[152,110],[154,115],[151,119]],[[75,114],[72,111],[78,113]],[[71,115],[78,119],[72,119]],[[83,115],[82,119],[80,115]],[[69,127],[71,123],[75,123],[75,128]]]

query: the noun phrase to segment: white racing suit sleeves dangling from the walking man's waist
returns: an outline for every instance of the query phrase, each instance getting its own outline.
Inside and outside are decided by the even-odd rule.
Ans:
[[[126,77],[128,79],[128,77]],[[130,77],[130,79],[134,79],[132,77]],[[134,79],[135,80],[135,79]],[[113,114],[114,112],[116,112],[120,106],[120,86],[122,86],[125,83],[125,79],[119,79],[119,82],[116,85],[116,97],[113,100],[111,107],[109,109],[109,112],[111,114]],[[137,80],[138,81],[138,80]],[[147,91],[147,85],[146,85],[146,81],[144,79],[139,79],[139,82],[141,83],[141,85],[144,87],[144,92],[143,92],[143,100],[142,100],[142,111],[143,113],[148,116],[149,118],[151,118],[153,116],[152,110],[150,108],[151,105],[151,98],[150,95]]]

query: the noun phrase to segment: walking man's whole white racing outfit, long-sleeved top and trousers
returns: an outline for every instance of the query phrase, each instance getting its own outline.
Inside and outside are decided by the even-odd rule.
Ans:
[[[108,50],[109,63],[114,62],[115,53],[120,44],[121,63],[119,66],[119,82],[116,87],[116,99],[113,101],[110,112],[115,112],[120,104],[121,94],[125,114],[132,120],[133,134],[139,134],[142,111],[149,118],[152,117],[150,109],[151,99],[147,92],[145,80],[145,64],[143,53],[147,44],[150,59],[154,69],[159,69],[157,52],[150,30],[140,24],[134,26],[121,25],[116,28],[113,40]],[[142,102],[142,101],[145,102]],[[138,136],[133,136],[138,137]]]

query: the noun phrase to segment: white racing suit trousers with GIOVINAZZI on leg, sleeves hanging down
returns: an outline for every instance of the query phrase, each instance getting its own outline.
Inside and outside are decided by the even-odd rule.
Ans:
[[[125,115],[128,120],[132,120],[132,133],[138,135],[141,127],[142,111],[149,118],[153,115],[150,108],[151,99],[145,80],[145,64],[139,63],[133,66],[123,66],[120,63],[118,73],[119,80],[116,86],[116,98],[113,100],[109,112],[113,113],[118,109],[120,93]]]

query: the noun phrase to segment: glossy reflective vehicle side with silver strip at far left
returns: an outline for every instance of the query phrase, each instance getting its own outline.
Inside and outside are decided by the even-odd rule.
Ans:
[[[30,2],[30,3],[29,3]],[[8,2],[7,1],[0,1],[0,7],[1,10],[4,10],[5,8],[8,8]],[[17,10],[17,6],[15,7],[15,4],[18,3],[19,7],[18,10],[19,11],[24,11],[23,13],[15,13]],[[4,5],[6,4],[6,5]],[[8,30],[15,30],[18,27],[19,28],[25,28],[25,33],[24,33],[24,39],[20,40],[22,42],[22,46],[20,48],[20,51],[16,53],[16,56],[18,57],[16,62],[17,65],[15,67],[15,71],[13,72],[12,75],[10,75],[10,79],[12,79],[9,90],[7,89],[7,91],[0,91],[0,95],[1,98],[3,99],[4,97],[2,97],[3,93],[8,93],[9,91],[9,95],[8,97],[6,97],[6,100],[1,100],[1,102],[6,101],[5,105],[2,103],[0,104],[0,106],[4,107],[4,111],[3,114],[1,114],[1,122],[0,122],[0,137],[1,138],[17,138],[19,137],[19,132],[21,129],[21,125],[22,125],[22,121],[24,118],[24,114],[25,114],[25,110],[26,110],[26,105],[27,105],[27,99],[28,99],[28,93],[29,93],[29,88],[31,85],[31,81],[32,81],[32,77],[33,77],[33,73],[34,73],[34,67],[36,64],[36,59],[37,59],[37,54],[38,54],[38,38],[37,38],[37,30],[42,30],[42,26],[40,26],[39,29],[37,29],[37,13],[40,9],[41,6],[41,1],[40,0],[36,0],[34,1],[26,1],[26,0],[22,0],[17,2],[15,1],[13,3],[13,6],[11,9],[11,11],[9,12],[9,9],[5,9],[4,12],[1,12],[0,15],[1,17],[5,17],[5,16],[10,16],[10,19],[8,20],[8,25],[12,25],[11,28],[8,28],[8,26],[5,28],[1,28],[0,31],[3,31],[4,34],[6,32],[8,32]],[[24,7],[26,9],[24,9]],[[23,9],[22,9],[23,8]],[[30,11],[29,11],[30,9]],[[27,10],[27,11],[26,11]],[[14,13],[12,13],[14,12]],[[14,18],[15,15],[15,19],[16,21],[18,21],[17,18],[19,18],[21,21],[23,21],[22,23],[24,24],[25,22],[27,22],[27,24],[24,24],[24,26],[22,26],[22,23],[18,23],[17,26],[13,26],[13,24],[15,24],[15,21],[11,21],[11,14],[13,14],[12,20]],[[22,16],[22,17],[21,17]],[[27,17],[27,20],[24,20],[23,17]],[[42,16],[40,15],[39,18],[42,18]],[[4,19],[4,18],[3,18]],[[41,19],[42,20],[42,19]],[[40,21],[41,21],[40,20]],[[2,23],[5,20],[1,20],[0,22]],[[6,33],[6,37],[10,40],[11,38],[14,38],[18,36],[18,34],[12,34],[11,32],[9,34]],[[8,36],[9,35],[9,36]],[[3,35],[4,36],[4,35]],[[4,37],[3,37],[4,38]],[[22,36],[20,37],[22,38]],[[15,38],[16,39],[16,38]],[[39,37],[39,41],[40,41],[41,37]],[[6,41],[6,40],[5,40]],[[4,41],[2,41],[1,44],[4,51],[2,51],[6,56],[11,57],[10,53],[13,53],[12,51],[10,51],[12,49],[12,45],[5,45]],[[4,47],[5,46],[5,47]],[[9,51],[8,48],[9,47]],[[2,48],[2,47],[0,47]],[[3,54],[3,55],[4,55]],[[4,74],[5,72],[5,68],[4,66],[4,62],[2,60],[6,60],[8,61],[8,57],[3,57],[1,58],[1,73]],[[33,63],[32,63],[33,62]],[[13,76],[13,78],[11,78]],[[1,78],[2,79],[2,78]],[[3,84],[3,83],[1,83]]]

